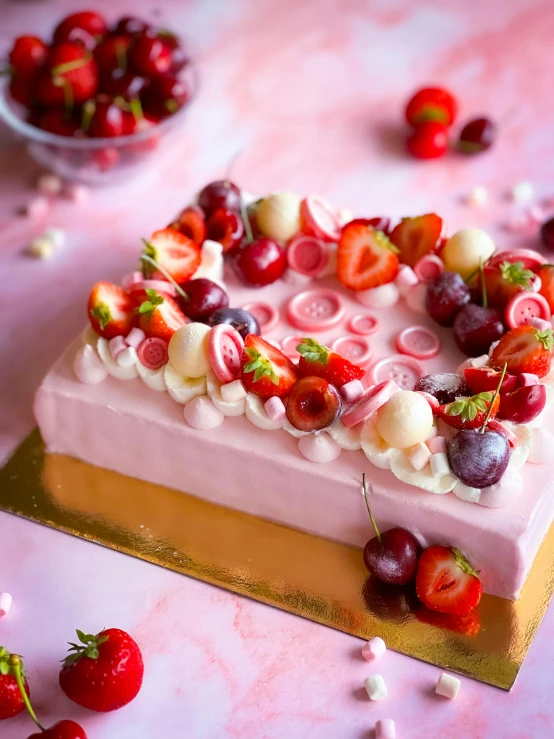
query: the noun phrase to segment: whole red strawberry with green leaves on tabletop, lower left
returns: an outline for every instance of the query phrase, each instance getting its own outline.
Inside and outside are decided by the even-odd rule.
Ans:
[[[99,634],[77,630],[80,645],[70,642],[60,671],[67,697],[91,711],[115,711],[126,706],[141,688],[144,675],[138,644],[121,629]]]

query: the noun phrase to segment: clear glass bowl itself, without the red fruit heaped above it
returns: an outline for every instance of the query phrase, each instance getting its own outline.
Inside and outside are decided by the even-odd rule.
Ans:
[[[111,185],[136,175],[170,145],[196,94],[196,75],[191,68],[185,72],[191,89],[189,101],[157,126],[129,136],[73,139],[42,131],[24,120],[24,108],[12,100],[7,78],[0,79],[0,119],[25,141],[29,155],[50,172],[70,182]]]

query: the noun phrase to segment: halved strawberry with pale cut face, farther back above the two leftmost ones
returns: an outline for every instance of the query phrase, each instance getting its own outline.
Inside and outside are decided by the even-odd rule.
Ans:
[[[188,280],[200,266],[200,247],[174,228],[154,231],[149,241],[144,240],[143,255],[150,257],[169,273],[176,282]],[[142,260],[145,277],[151,277],[157,267]]]

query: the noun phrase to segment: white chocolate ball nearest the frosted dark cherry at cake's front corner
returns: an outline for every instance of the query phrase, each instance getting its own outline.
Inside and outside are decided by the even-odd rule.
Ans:
[[[387,444],[396,449],[407,449],[429,438],[433,412],[422,395],[412,390],[400,390],[379,408],[376,426]]]

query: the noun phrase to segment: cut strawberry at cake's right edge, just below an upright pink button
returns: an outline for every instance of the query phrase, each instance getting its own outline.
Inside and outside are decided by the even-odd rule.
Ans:
[[[533,326],[518,326],[500,339],[491,354],[491,365],[502,369],[507,364],[508,372],[519,375],[530,372],[544,377],[550,372],[554,339],[552,330],[539,331]]]

